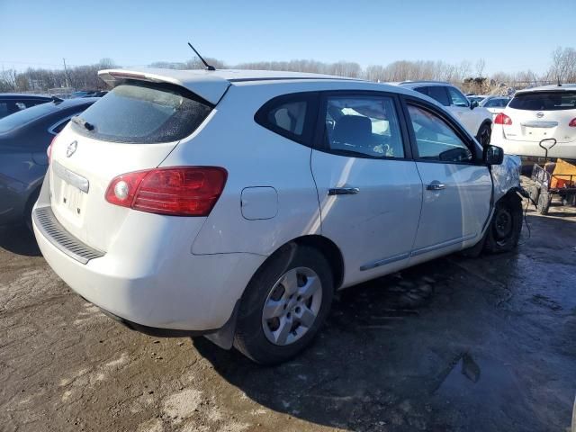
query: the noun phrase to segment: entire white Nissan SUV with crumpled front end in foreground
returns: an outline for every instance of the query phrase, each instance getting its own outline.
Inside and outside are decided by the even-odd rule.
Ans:
[[[515,247],[518,164],[434,100],[335,76],[103,70],[49,148],[43,256],[131,329],[273,364],[334,292],[473,247]]]

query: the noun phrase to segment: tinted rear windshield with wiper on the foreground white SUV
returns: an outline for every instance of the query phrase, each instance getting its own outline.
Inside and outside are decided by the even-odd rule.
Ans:
[[[80,114],[94,129],[72,122],[78,133],[106,141],[148,144],[183,139],[211,112],[211,105],[175,85],[129,83]]]

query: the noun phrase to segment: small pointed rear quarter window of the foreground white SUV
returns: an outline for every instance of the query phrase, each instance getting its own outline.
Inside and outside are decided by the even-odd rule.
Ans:
[[[276,97],[265,103],[254,119],[268,130],[309,145],[312,125],[308,117],[316,112],[316,97],[311,93]]]

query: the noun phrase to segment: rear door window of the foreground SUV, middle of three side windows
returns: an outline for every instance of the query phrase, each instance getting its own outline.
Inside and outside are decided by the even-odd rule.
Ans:
[[[331,152],[352,157],[404,157],[391,97],[329,96],[324,115]]]

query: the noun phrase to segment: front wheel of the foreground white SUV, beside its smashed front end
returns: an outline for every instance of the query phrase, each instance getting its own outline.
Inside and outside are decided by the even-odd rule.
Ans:
[[[496,203],[494,216],[486,233],[484,250],[491,254],[509,252],[518,246],[522,231],[522,201],[509,194]]]

